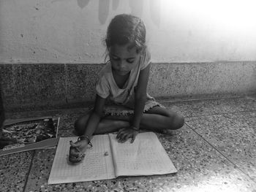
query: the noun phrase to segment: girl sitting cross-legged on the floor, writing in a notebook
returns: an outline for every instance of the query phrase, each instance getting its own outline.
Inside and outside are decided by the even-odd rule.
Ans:
[[[133,15],[116,15],[108,26],[105,45],[109,61],[99,72],[94,108],[75,122],[81,136],[70,142],[69,160],[79,162],[93,134],[118,131],[119,142],[135,140],[140,128],[167,134],[181,128],[184,117],[165,109],[146,92],[151,66],[146,28]]]

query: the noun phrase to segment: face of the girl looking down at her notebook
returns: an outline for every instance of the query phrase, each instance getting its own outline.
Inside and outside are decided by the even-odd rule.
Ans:
[[[138,64],[140,53],[137,48],[127,45],[112,45],[109,49],[110,62],[116,74],[128,74]]]

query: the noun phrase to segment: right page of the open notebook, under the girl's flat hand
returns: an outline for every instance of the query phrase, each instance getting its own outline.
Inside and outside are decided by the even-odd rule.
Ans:
[[[116,135],[110,134],[116,176],[153,175],[177,172],[172,161],[153,132],[137,135],[135,142],[119,143]]]

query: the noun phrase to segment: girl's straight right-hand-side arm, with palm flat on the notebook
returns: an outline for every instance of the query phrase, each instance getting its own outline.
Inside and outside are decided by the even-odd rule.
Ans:
[[[118,131],[116,138],[119,142],[126,142],[129,138],[132,138],[131,142],[134,142],[135,137],[138,134],[138,130],[140,128],[140,119],[143,115],[146,102],[149,69],[150,64],[148,64],[145,69],[140,71],[138,85],[135,91],[135,110],[131,122],[131,128],[122,128],[120,131]]]

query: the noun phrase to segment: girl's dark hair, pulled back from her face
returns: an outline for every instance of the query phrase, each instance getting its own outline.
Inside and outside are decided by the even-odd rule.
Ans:
[[[140,50],[146,49],[146,28],[140,18],[134,15],[121,14],[116,15],[108,26],[105,44],[107,49],[112,45],[127,45],[130,43],[132,47]]]

